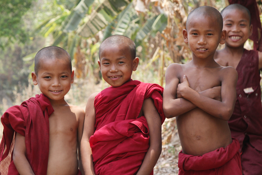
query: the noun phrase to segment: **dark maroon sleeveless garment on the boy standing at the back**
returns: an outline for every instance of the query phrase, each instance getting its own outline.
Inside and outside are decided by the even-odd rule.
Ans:
[[[237,100],[228,121],[232,137],[240,142],[244,174],[262,174],[262,105],[258,51],[244,51],[237,65]],[[252,88],[246,93],[244,89]]]

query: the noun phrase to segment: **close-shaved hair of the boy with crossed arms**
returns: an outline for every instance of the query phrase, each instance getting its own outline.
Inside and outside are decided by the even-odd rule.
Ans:
[[[218,24],[218,28],[221,29],[222,31],[223,29],[222,15],[220,14],[220,12],[217,9],[213,7],[209,7],[209,6],[201,6],[201,7],[194,9],[192,12],[190,12],[189,15],[187,16],[186,27],[188,28],[190,24],[190,20],[193,19],[193,17],[199,17],[199,16],[206,16],[206,17],[210,17],[212,20],[215,20],[216,23]]]

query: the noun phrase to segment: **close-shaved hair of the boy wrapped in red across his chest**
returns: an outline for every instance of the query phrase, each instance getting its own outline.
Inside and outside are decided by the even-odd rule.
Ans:
[[[135,43],[132,39],[123,35],[113,35],[106,38],[99,46],[99,60],[105,47],[124,47],[130,51],[131,58],[135,59]]]

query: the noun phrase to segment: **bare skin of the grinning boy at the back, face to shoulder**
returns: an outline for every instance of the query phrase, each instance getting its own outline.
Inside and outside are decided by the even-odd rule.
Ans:
[[[244,44],[252,35],[253,26],[249,25],[247,13],[239,9],[225,10],[223,13],[223,30],[227,31],[225,48],[217,50],[214,59],[222,66],[237,65],[244,52]],[[234,37],[238,37],[234,39]],[[262,68],[262,52],[258,52],[258,70]]]

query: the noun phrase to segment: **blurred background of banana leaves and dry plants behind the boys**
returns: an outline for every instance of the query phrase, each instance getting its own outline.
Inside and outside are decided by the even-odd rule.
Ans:
[[[261,0],[257,2],[261,14]],[[192,59],[182,37],[189,12],[203,5],[221,11],[228,4],[227,0],[1,0],[0,115],[41,93],[31,80],[34,56],[51,45],[71,55],[75,82],[65,99],[85,109],[90,94],[109,86],[101,79],[98,49],[115,34],[136,44],[140,65],[132,78],[164,87],[167,66]],[[253,49],[253,41],[245,48]],[[181,147],[175,118],[162,125],[162,143],[155,174],[177,174]]]

